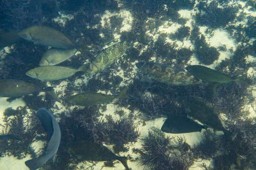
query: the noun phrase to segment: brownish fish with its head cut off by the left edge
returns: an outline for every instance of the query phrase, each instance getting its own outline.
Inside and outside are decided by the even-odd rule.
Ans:
[[[53,87],[41,88],[33,83],[28,83],[18,79],[1,79],[0,80],[0,97],[21,97],[37,92],[46,92],[54,100],[60,102],[60,99],[54,92]]]

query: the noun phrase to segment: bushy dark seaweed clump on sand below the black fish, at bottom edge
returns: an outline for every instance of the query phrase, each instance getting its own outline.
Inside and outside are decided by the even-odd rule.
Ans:
[[[143,141],[140,162],[150,170],[188,170],[193,164],[190,146],[183,138],[165,137],[161,130],[151,128]]]

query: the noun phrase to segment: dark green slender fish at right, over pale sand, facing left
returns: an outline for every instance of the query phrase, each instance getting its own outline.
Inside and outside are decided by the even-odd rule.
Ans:
[[[192,65],[187,66],[186,70],[190,72],[193,76],[195,76],[198,79],[208,81],[208,82],[216,82],[216,83],[229,83],[232,81],[241,81],[244,82],[244,80],[241,77],[237,78],[231,78],[227,75],[224,75],[222,73],[219,73],[218,71],[215,71],[211,68],[207,68],[200,65]]]

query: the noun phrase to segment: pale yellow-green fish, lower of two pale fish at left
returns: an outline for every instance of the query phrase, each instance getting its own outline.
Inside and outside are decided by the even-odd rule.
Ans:
[[[62,66],[41,66],[30,69],[26,75],[39,80],[60,80],[73,76],[76,72],[84,71],[85,66],[82,65],[78,69]]]

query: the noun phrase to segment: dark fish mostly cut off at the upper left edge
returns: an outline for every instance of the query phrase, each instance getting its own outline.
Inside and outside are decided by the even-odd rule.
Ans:
[[[10,29],[0,31],[0,49],[12,45],[15,42],[20,42],[21,40],[22,38],[16,31]]]

